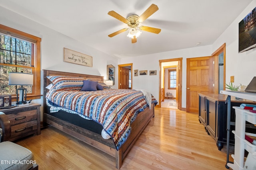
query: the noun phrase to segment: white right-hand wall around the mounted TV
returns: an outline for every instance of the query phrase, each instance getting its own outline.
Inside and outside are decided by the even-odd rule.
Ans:
[[[212,45],[212,51],[226,43],[226,83],[234,76],[234,85],[248,85],[256,76],[256,48],[238,53],[238,23],[254,8],[253,0]]]

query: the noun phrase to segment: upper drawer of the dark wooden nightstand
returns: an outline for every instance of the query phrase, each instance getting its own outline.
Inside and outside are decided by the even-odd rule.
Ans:
[[[11,125],[16,125],[19,123],[36,120],[37,110],[29,110],[19,113],[8,114],[7,117],[10,120]]]

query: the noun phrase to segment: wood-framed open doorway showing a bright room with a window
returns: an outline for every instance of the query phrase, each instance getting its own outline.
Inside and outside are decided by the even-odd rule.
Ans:
[[[168,106],[172,104],[177,109],[182,109],[182,58],[159,60],[160,74],[159,74],[159,107],[166,107],[166,99]],[[170,82],[170,72],[175,71],[176,74],[176,87],[174,82]],[[172,84],[172,87],[169,85]],[[172,93],[174,98],[167,96]],[[166,99],[165,99],[166,98]],[[172,100],[172,101],[169,101]],[[172,108],[172,107],[170,107]]]

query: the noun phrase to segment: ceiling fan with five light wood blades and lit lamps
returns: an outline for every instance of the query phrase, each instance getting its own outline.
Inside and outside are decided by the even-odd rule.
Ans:
[[[137,37],[140,36],[141,31],[148,31],[151,33],[160,33],[161,29],[159,28],[154,28],[154,27],[147,27],[147,26],[138,26],[140,23],[142,23],[144,20],[146,20],[149,16],[151,16],[152,14],[154,14],[156,11],[158,10],[158,6],[155,4],[152,4],[150,7],[148,7],[148,9],[141,15],[131,15],[128,16],[127,19],[120,16],[118,13],[114,12],[114,11],[110,11],[108,12],[108,15],[126,23],[129,27],[128,28],[123,28],[120,29],[119,31],[116,31],[110,35],[108,35],[108,37],[114,37],[115,35],[118,35],[124,31],[127,31],[129,29],[129,33],[128,33],[128,37],[132,38],[132,43],[136,43],[137,42]]]

